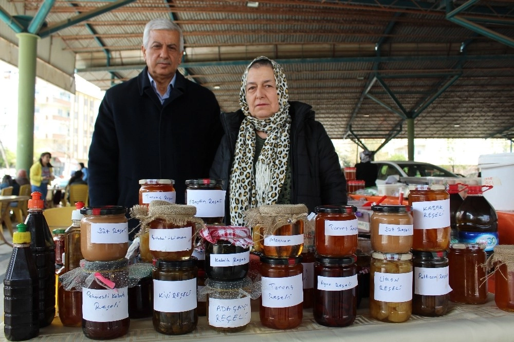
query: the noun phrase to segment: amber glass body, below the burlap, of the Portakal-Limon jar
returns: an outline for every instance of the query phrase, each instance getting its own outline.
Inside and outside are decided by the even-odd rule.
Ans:
[[[163,219],[150,222],[150,253],[154,259],[187,260],[193,254],[195,223],[176,225]]]

